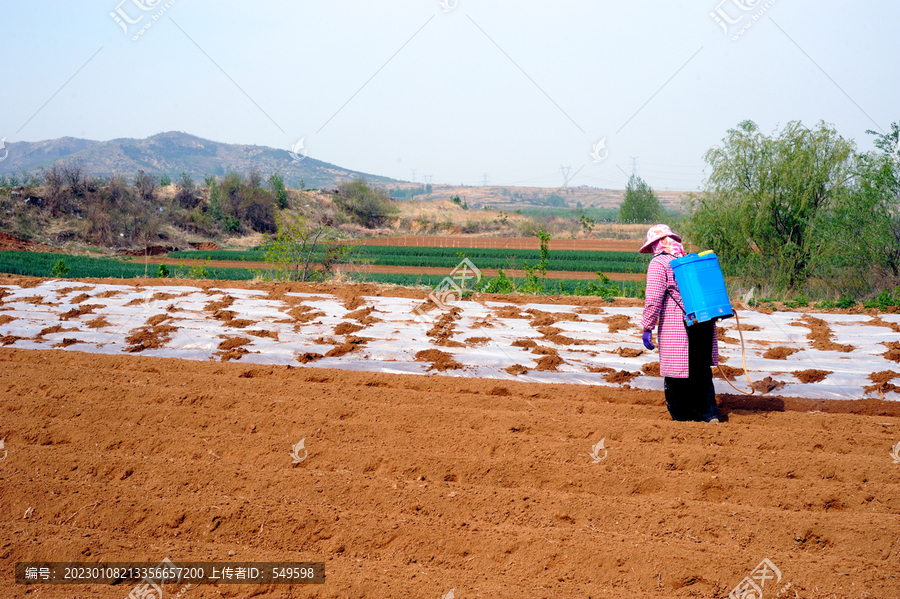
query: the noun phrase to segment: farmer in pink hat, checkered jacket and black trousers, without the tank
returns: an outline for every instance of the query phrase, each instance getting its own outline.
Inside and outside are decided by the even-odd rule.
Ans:
[[[672,420],[719,422],[711,365],[719,363],[719,343],[714,321],[684,323],[684,302],[675,284],[670,262],[685,255],[681,237],[666,225],[647,231],[639,250],[653,254],[647,267],[644,302],[644,347],[654,349],[652,332],[659,324],[659,371],[664,377],[666,407]]]

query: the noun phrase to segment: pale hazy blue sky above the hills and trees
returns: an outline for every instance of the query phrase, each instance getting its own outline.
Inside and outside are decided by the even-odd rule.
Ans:
[[[863,150],[900,120],[897,0],[720,2],[0,0],[0,137],[305,138],[404,180],[695,189],[742,120]]]

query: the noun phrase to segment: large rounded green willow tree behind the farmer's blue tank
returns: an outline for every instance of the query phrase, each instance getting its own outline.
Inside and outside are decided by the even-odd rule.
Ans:
[[[852,141],[824,123],[799,122],[765,135],[752,121],[728,131],[710,149],[712,172],[688,198],[683,228],[690,240],[719,254],[730,274],[796,288],[823,256],[838,205],[853,201],[857,154]]]

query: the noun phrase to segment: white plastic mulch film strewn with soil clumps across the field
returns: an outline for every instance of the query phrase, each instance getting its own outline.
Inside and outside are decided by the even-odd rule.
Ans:
[[[7,347],[662,389],[659,376],[642,370],[658,362],[659,355],[641,345],[641,308],[598,310],[540,304],[539,298],[527,305],[457,301],[432,306],[423,318],[422,311],[416,311],[422,300],[379,296],[360,298],[364,304],[348,319],[354,310],[328,294],[287,293],[285,299],[271,299],[265,291],[246,289],[70,281],[29,288],[5,285],[0,290],[5,295],[0,302],[0,343]],[[367,308],[373,310],[361,322],[358,311]],[[450,308],[457,310],[452,319],[445,319],[450,321],[449,335],[441,342],[441,337],[427,333]],[[552,330],[536,318],[540,312],[552,315]],[[607,321],[616,315],[628,318],[627,328],[611,332]],[[772,395],[900,400],[896,392],[873,388],[869,378],[876,372],[900,371],[900,365],[886,357],[887,343],[900,337],[891,328],[892,323],[900,324],[900,315],[882,314],[880,319],[852,314],[812,316],[825,321],[830,342],[844,347],[814,349],[808,338],[809,322],[800,313],[740,313],[752,380],[770,377],[778,385],[770,391]],[[741,369],[735,321],[718,325],[725,333],[719,353],[734,373]],[[559,343],[552,340],[554,335]],[[141,342],[148,337],[150,343]],[[332,351],[349,337],[364,341],[352,351]],[[535,345],[544,353],[535,353]],[[449,354],[461,367],[438,371],[431,361],[416,360],[417,353],[429,349]],[[770,357],[764,357],[773,349],[787,355],[775,359],[769,352]],[[559,360],[550,370],[539,370],[538,361],[552,350]],[[330,351],[332,357],[326,355]],[[810,377],[808,371],[818,374]],[[739,388],[748,389],[742,373],[733,376]],[[816,379],[821,380],[802,382]],[[715,384],[717,392],[734,392],[719,378]]]

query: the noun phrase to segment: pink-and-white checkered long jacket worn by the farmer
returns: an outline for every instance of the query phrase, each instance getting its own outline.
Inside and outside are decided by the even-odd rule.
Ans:
[[[675,274],[669,264],[675,257],[657,254],[647,268],[647,293],[644,299],[644,316],[641,328],[653,330],[659,323],[659,372],[662,376],[685,379],[688,376],[687,329],[684,325],[684,305],[681,293],[675,285]],[[669,293],[666,293],[666,290]],[[713,351],[710,364],[719,363],[719,341],[713,330]]]

